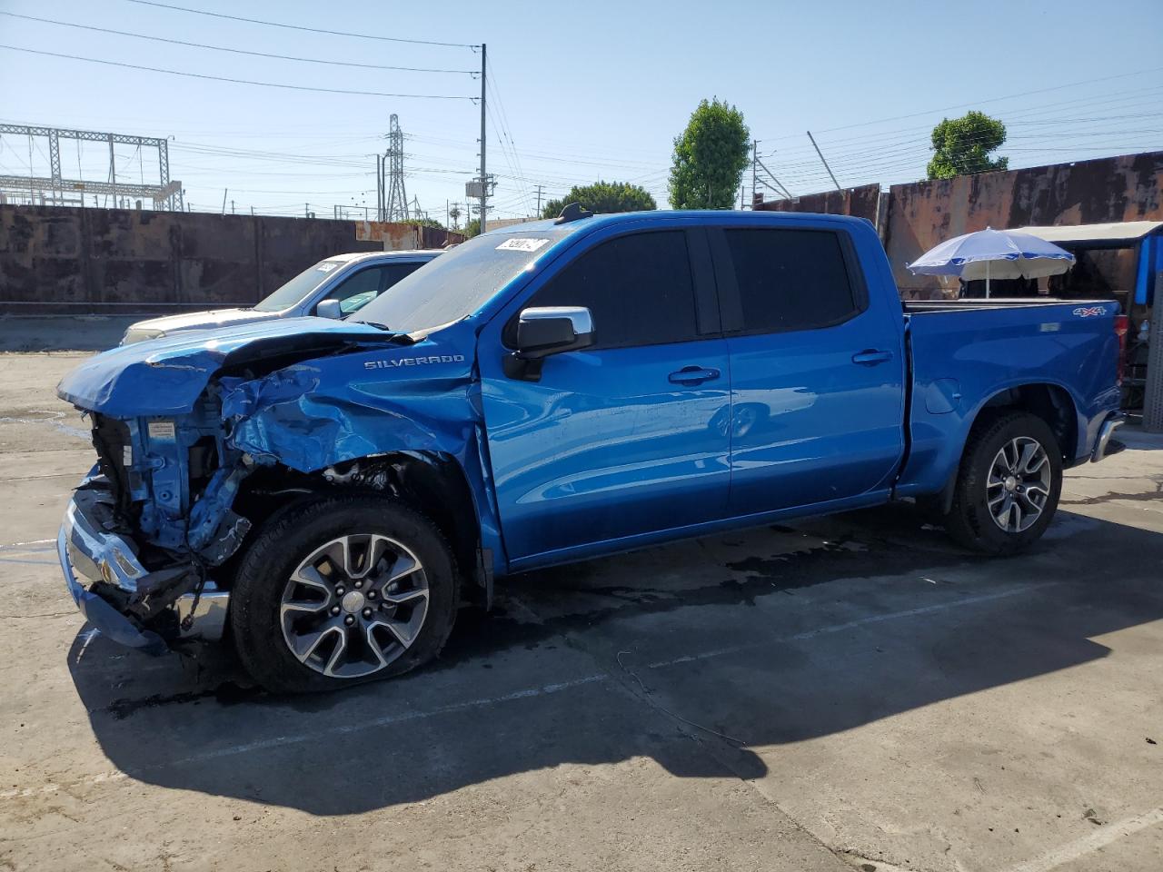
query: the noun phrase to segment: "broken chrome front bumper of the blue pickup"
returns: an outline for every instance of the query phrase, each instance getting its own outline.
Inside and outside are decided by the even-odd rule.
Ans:
[[[147,570],[131,538],[116,528],[108,483],[90,474],[57,536],[65,586],[86,620],[112,641],[150,655],[184,638],[221,638],[230,594],[204,581],[193,563]]]

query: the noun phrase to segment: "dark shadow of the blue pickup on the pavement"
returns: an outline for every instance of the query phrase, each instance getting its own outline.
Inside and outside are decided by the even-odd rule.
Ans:
[[[1106,656],[1092,637],[1163,617],[1161,560],[1163,535],[1068,512],[985,559],[890,507],[509,579],[433,666],[335,694],[273,698],[221,652],[150,660],[85,630],[69,664],[130,778],[312,814],[633,757],[756,778],[751,749]]]

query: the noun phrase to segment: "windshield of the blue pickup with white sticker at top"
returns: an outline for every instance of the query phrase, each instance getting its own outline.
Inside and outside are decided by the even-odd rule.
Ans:
[[[400,333],[459,321],[570,231],[554,227],[477,236],[401,279],[351,320]]]

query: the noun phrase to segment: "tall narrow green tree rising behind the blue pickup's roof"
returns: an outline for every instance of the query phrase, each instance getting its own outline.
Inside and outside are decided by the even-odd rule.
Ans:
[[[670,205],[676,209],[729,209],[748,162],[751,131],[743,113],[715,98],[691,114],[675,140]]]

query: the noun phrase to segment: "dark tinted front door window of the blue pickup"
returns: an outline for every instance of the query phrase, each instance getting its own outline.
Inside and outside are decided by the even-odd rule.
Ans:
[[[594,348],[658,345],[697,337],[694,287],[682,230],[604,242],[550,279],[526,307],[586,306]],[[515,328],[515,321],[512,324]],[[506,334],[512,344],[514,330]]]

